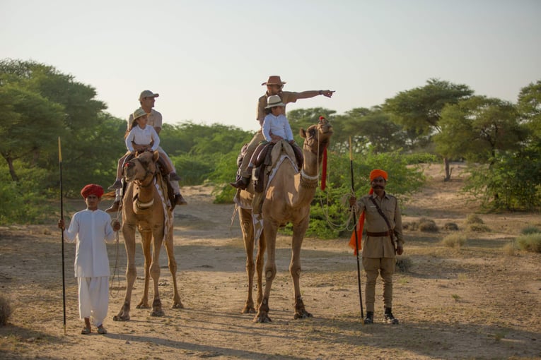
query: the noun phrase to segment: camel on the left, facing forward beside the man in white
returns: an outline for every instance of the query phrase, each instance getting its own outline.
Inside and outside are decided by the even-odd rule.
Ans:
[[[173,252],[173,214],[164,203],[161,187],[157,184],[161,176],[157,175],[158,152],[143,152],[134,157],[124,167],[127,180],[126,193],[122,200],[122,235],[127,253],[126,295],[120,312],[113,320],[129,320],[129,308],[132,301],[132,289],[136,278],[135,268],[135,229],[141,234],[141,246],[144,254],[144,293],[137,308],[149,308],[149,279],[154,284],[151,316],[163,316],[158,292],[160,277],[160,250],[165,240],[168,265],[173,276],[173,308],[183,308],[177,288],[177,262]],[[165,184],[164,184],[165,185]],[[165,196],[166,198],[166,196]],[[165,238],[165,239],[164,239]],[[151,252],[152,246],[152,252]]]

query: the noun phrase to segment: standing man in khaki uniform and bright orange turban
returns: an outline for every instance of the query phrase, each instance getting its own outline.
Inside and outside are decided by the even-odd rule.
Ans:
[[[370,193],[359,200],[354,196],[349,199],[349,205],[355,207],[358,211],[356,213],[364,212],[366,222],[367,236],[363,239],[362,246],[363,268],[366,272],[365,324],[373,323],[378,273],[383,280],[385,322],[398,323],[398,319],[392,316],[392,275],[395,273],[396,254],[402,255],[404,252],[404,237],[397,198],[385,193],[387,178],[387,172],[380,169],[372,170]]]

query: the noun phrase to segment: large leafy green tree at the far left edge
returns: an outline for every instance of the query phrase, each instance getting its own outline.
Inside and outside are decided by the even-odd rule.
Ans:
[[[57,183],[57,138],[62,138],[66,189],[85,181],[104,181],[115,172],[124,149],[125,122],[104,112],[105,104],[95,99],[95,89],[78,83],[74,76],[35,61],[0,61],[0,93],[8,102],[7,122],[0,131],[1,152],[11,162],[11,178],[17,180],[13,161],[21,166],[47,169],[52,176],[47,188]],[[84,176],[81,176],[84,174]],[[112,175],[111,175],[112,176]]]

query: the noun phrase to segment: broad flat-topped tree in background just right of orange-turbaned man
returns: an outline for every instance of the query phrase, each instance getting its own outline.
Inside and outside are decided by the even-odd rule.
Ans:
[[[431,137],[441,131],[439,121],[443,107],[465,100],[472,94],[473,90],[467,85],[429,79],[422,87],[399,92],[385,100],[383,110],[392,114],[392,121],[401,124],[406,131],[412,131],[416,136]],[[446,173],[444,181],[448,181],[448,157],[443,156],[443,165]]]

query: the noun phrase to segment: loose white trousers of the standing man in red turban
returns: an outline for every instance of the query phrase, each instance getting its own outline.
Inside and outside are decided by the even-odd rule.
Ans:
[[[109,277],[77,277],[79,317],[90,318],[91,324],[102,325],[109,307]]]

